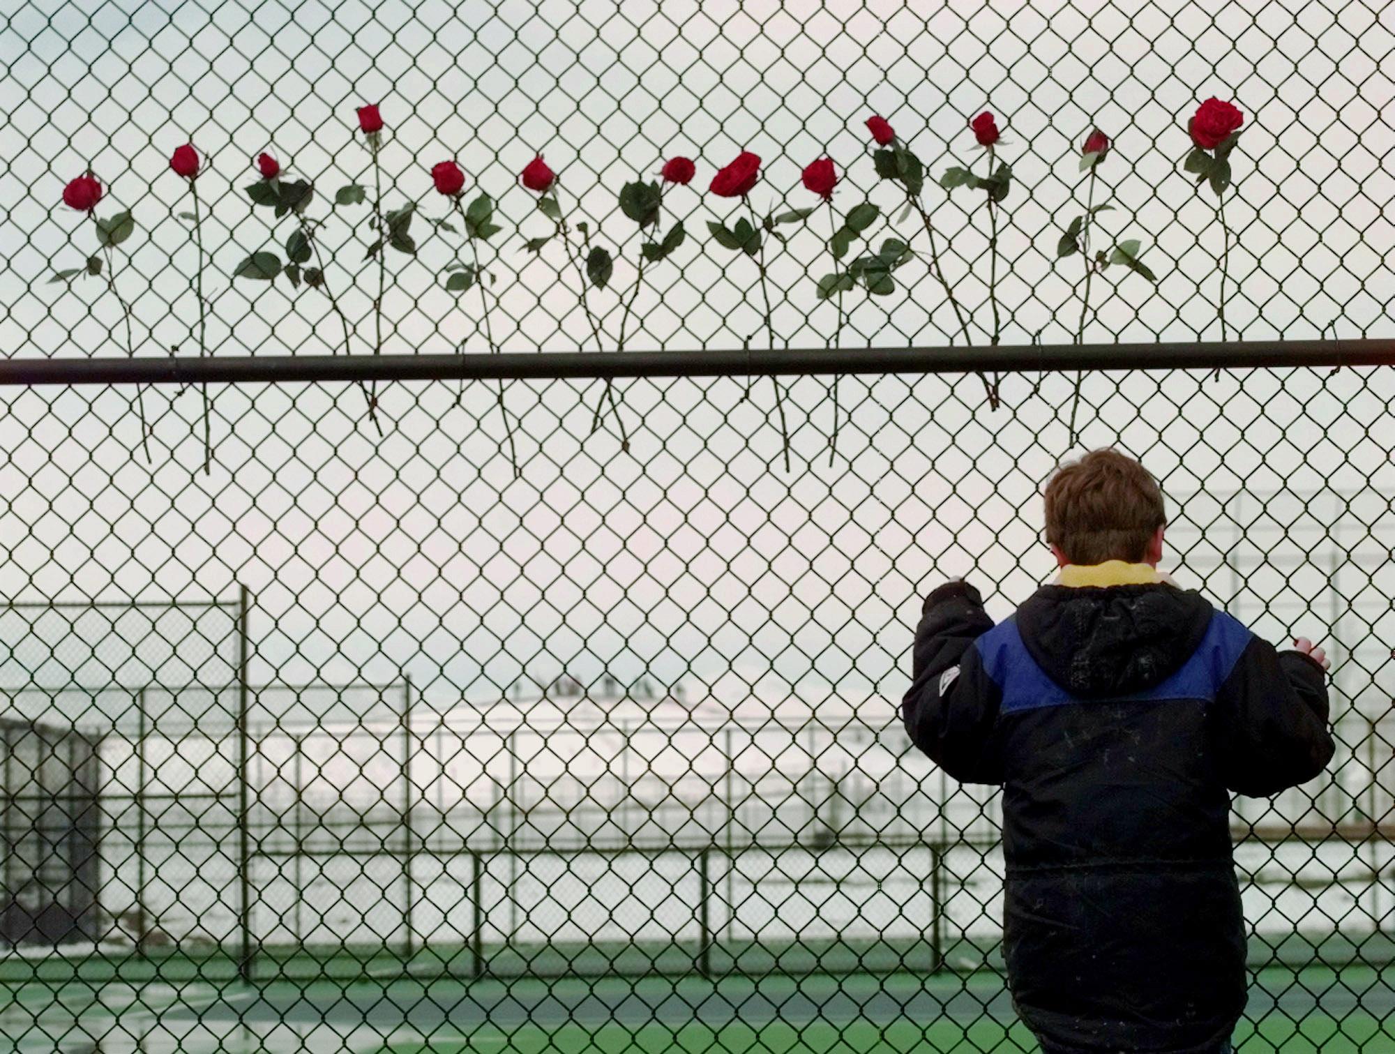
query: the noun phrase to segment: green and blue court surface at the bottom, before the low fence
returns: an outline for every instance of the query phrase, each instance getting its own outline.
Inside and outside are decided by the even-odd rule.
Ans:
[[[0,1048],[24,1054],[1036,1048],[990,972],[258,986],[195,972],[173,983],[11,982],[0,998],[0,1043],[8,1044]],[[1395,1053],[1395,988],[1368,966],[1267,969],[1236,1039],[1246,1054]]]

